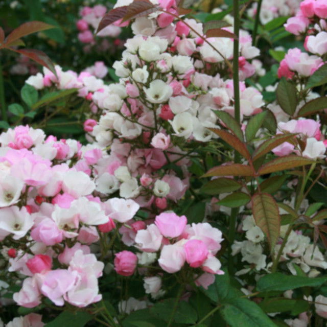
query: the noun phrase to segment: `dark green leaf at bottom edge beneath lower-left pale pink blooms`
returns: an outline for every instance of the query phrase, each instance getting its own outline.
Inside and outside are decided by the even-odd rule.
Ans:
[[[57,316],[57,318],[45,324],[44,327],[83,327],[91,319],[92,315],[86,311],[78,311],[75,313],[70,311],[63,311]]]

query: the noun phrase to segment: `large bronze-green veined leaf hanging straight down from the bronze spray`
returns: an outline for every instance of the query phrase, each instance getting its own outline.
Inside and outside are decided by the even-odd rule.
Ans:
[[[281,228],[281,217],[274,198],[267,193],[256,193],[252,196],[252,214],[256,225],[266,234],[270,249],[276,244]]]

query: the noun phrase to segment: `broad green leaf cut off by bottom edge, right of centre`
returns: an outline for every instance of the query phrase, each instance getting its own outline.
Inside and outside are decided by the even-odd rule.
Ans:
[[[229,299],[220,312],[230,327],[276,327],[256,303],[246,298]]]

